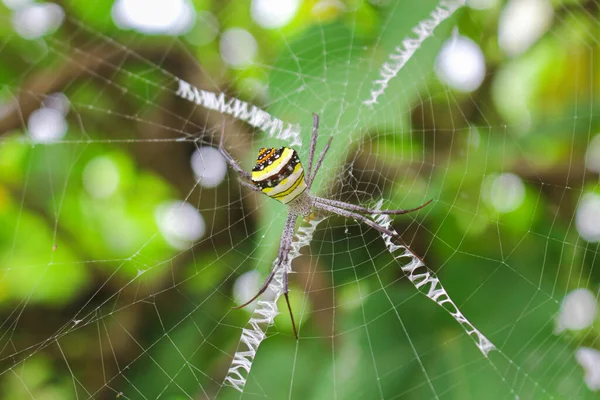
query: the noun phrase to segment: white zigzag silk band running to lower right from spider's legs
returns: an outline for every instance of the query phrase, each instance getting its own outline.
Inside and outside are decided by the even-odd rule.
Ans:
[[[377,202],[375,209],[381,210],[383,201]],[[386,229],[398,234],[392,227],[392,219],[389,215],[373,214],[372,218],[378,225],[385,227]],[[446,289],[442,286],[442,283],[438,277],[429,269],[423,261],[417,257],[406,245],[398,245],[392,241],[392,237],[385,233],[381,233],[381,237],[385,241],[385,245],[388,248],[390,254],[403,265],[402,271],[407,274],[408,280],[413,286],[421,293],[426,295],[429,299],[433,300],[436,304],[446,310],[452,318],[458,322],[463,330],[473,339],[475,346],[483,353],[485,357],[492,350],[496,350],[496,346],[486,338],[479,329],[463,315],[458,309],[458,306],[452,301]],[[399,254],[398,254],[399,253]],[[402,259],[410,259],[408,263],[402,261]],[[427,289],[429,285],[429,289]]]

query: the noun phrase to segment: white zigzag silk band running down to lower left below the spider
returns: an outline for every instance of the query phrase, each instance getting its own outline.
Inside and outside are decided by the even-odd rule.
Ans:
[[[274,293],[273,298],[271,300],[259,300],[246,328],[242,329],[242,336],[233,356],[231,366],[227,371],[225,384],[234,387],[240,392],[244,391],[244,386],[252,368],[258,346],[266,338],[267,329],[273,325],[275,317],[279,314],[277,300],[283,294],[283,273],[284,271],[291,272],[292,261],[300,255],[300,249],[310,244],[317,225],[323,219],[311,220],[307,226],[301,226],[296,231],[294,241],[292,242],[292,249],[288,257],[289,261],[277,270],[273,280],[269,284],[269,290]],[[277,260],[273,262],[273,267],[276,264]]]

